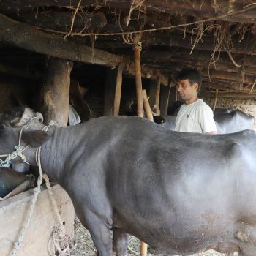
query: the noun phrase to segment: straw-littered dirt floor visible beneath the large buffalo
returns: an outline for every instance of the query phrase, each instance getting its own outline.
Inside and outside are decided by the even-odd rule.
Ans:
[[[78,218],[75,218],[75,236],[71,244],[71,255],[73,256],[96,256],[96,250],[92,243],[91,236]],[[134,236],[129,236],[129,249],[127,256],[140,255],[140,241]],[[213,250],[198,254],[198,256],[222,256]],[[148,253],[148,256],[153,256]]]

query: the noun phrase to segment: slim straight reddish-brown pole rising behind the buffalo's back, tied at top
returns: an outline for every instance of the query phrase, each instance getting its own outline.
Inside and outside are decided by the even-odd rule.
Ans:
[[[143,97],[142,97],[142,82],[140,69],[140,48],[135,47],[135,81],[136,81],[136,96],[137,96],[137,116],[143,117]]]

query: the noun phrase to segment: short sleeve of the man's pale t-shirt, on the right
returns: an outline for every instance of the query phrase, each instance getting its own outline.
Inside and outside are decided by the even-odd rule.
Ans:
[[[216,124],[214,121],[214,113],[208,105],[202,105],[200,108],[200,126],[203,133],[217,132]]]

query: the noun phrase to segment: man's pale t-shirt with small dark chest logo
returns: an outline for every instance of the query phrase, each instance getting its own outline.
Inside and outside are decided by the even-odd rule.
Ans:
[[[175,130],[178,132],[212,132],[217,131],[214,122],[214,113],[211,108],[197,99],[191,104],[181,105],[176,118]]]

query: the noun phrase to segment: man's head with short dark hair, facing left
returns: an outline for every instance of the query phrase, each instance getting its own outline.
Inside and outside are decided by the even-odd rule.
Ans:
[[[189,104],[198,99],[197,93],[202,84],[202,78],[196,69],[182,69],[176,75],[176,82],[181,100]]]

